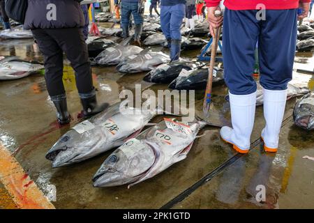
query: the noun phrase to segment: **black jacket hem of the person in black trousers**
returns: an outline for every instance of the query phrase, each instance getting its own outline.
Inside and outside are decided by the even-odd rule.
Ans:
[[[80,1],[82,0],[28,0],[24,29],[83,27],[85,20]],[[56,20],[50,13],[54,8]]]

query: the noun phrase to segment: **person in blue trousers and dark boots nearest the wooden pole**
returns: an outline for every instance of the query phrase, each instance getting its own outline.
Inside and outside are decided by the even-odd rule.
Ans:
[[[181,24],[186,15],[186,0],[161,0],[160,24],[170,47],[170,59],[178,61],[181,52]]]

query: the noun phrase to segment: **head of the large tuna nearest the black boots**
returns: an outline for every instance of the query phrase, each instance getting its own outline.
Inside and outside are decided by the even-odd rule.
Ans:
[[[52,161],[52,167],[63,167],[95,156],[94,153],[106,141],[105,134],[96,129],[82,134],[76,130],[66,132],[46,154],[47,160]]]

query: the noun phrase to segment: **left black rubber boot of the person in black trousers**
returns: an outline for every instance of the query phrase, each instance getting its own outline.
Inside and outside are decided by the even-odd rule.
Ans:
[[[60,125],[70,123],[70,115],[68,114],[68,105],[66,104],[66,95],[57,95],[50,97],[57,109],[57,121]]]

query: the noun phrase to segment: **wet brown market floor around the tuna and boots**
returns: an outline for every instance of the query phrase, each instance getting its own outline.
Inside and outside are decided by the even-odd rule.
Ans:
[[[197,53],[184,52],[183,56],[195,57]],[[0,55],[43,61],[32,40],[3,41]],[[312,66],[313,69],[313,54],[298,57],[308,59],[305,64],[297,64],[298,68]],[[144,73],[121,75],[114,67],[93,68],[98,99],[110,104],[119,101],[121,90],[133,91],[135,84],[142,84],[142,90],[167,89],[165,84],[142,82],[142,77]],[[264,118],[262,107],[257,107],[251,138],[253,150],[248,155],[232,151],[220,140],[218,128],[207,127],[200,132],[204,136],[195,140],[186,160],[154,178],[130,189],[126,185],[95,188],[91,178],[112,151],[59,169],[52,169],[50,161],[45,159],[45,153],[54,142],[78,122],[80,99],[74,72],[69,66],[64,69],[63,82],[68,109],[73,117],[71,125],[63,128],[56,123],[54,106],[48,98],[43,75],[0,82],[1,143],[43,194],[47,194],[48,188],[54,185],[57,197],[51,203],[55,208],[314,208],[314,161],[303,158],[305,155],[314,157],[314,134],[293,125],[295,98],[287,102],[276,155],[260,151]],[[314,89],[312,75],[295,73],[294,82]],[[196,113],[199,115],[202,114],[203,94],[203,91],[195,93]],[[216,86],[213,94],[210,121],[230,121],[229,107],[224,100],[227,87]],[[157,116],[152,122],[156,123],[161,118],[163,116]],[[0,208],[19,208],[14,202],[14,194],[8,190],[8,187],[19,185],[15,182],[10,185],[2,183],[1,177]],[[262,187],[266,190],[266,201],[257,202],[255,196]]]

